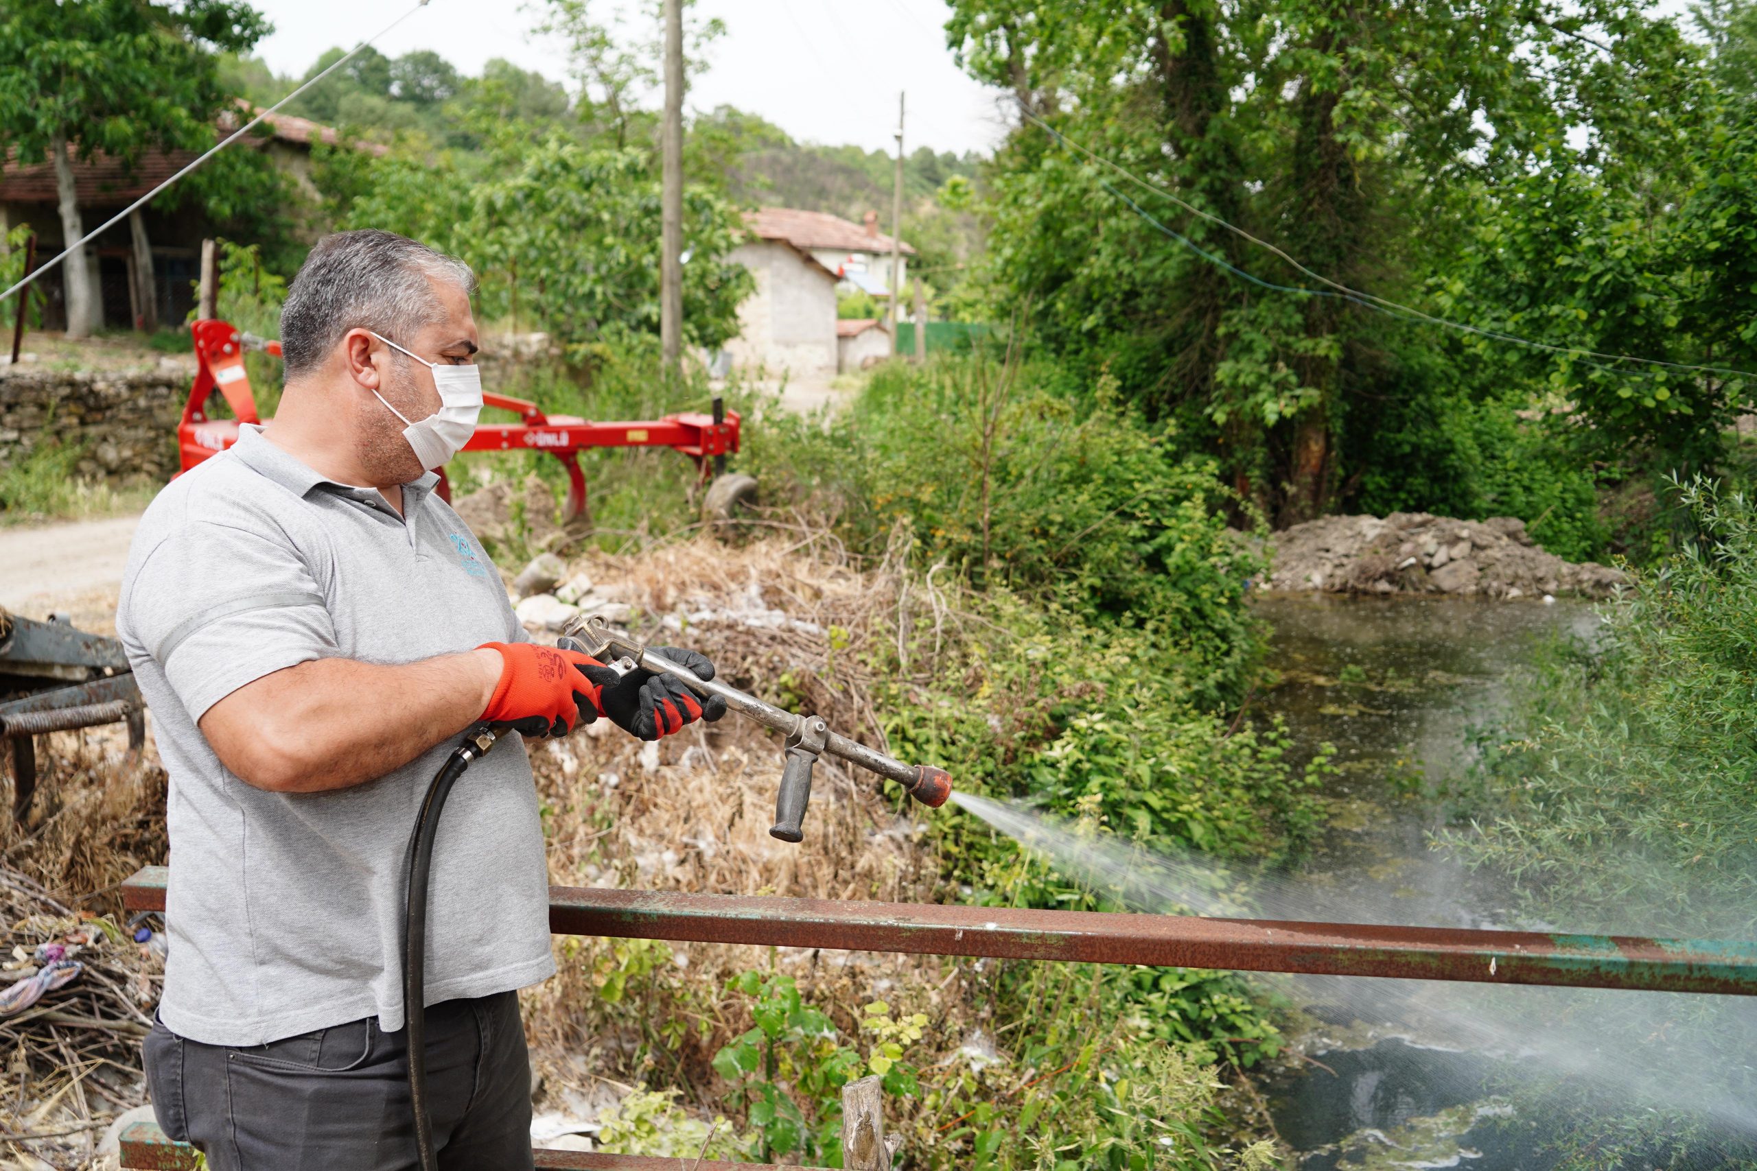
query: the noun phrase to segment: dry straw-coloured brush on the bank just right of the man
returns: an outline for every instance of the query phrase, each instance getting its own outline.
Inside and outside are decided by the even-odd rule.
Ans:
[[[611,586],[633,607],[625,625],[636,637],[699,650],[734,686],[882,746],[863,651],[894,644],[900,623],[914,630],[919,618],[931,630],[959,620],[938,590],[905,585],[894,569],[900,553],[856,572],[810,534],[743,548],[698,539],[634,557],[590,555],[569,572]],[[912,665],[922,678],[933,669]],[[914,809],[898,813],[877,778],[833,757],[817,765],[805,843],[770,837],[782,741],[736,715],[652,746],[599,723],[532,746],[531,760],[557,883],[878,901],[936,894],[938,867]],[[794,976],[849,1038],[859,1006],[878,997],[928,1013],[929,1036],[954,1050],[984,1011],[975,997],[982,976],[936,957],[666,945],[652,967],[652,948],[640,941],[555,946],[560,974],[527,994],[525,1020],[543,1074],[539,1110],[573,1115],[589,1117],[648,1078],[710,1085],[713,1052],[750,1027],[722,994],[745,969]],[[675,1022],[687,1031],[671,1034],[673,1048],[659,1038]]]

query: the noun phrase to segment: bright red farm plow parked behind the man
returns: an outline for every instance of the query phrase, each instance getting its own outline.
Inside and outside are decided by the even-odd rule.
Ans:
[[[264,341],[241,332],[227,321],[197,321],[190,327],[195,339],[195,383],[183,404],[177,423],[177,462],[190,471],[207,456],[237,442],[242,423],[264,423],[257,413],[257,395],[244,372],[244,353],[257,349],[281,356],[281,342]],[[216,418],[213,400],[223,399],[232,418]],[[682,411],[652,421],[590,421],[569,414],[545,414],[538,404],[506,395],[485,393],[483,402],[497,411],[511,411],[517,423],[481,423],[464,446],[464,451],[543,451],[568,469],[568,502],[562,520],[585,516],[585,472],[580,471],[580,451],[589,448],[671,448],[696,460],[701,478],[710,469],[719,472],[726,456],[738,451],[738,413],[722,411],[715,399],[713,414]],[[710,462],[712,460],[712,462]],[[738,481],[738,483],[733,483]],[[754,492],[748,478],[726,478],[724,486],[708,493],[708,507],[731,506],[734,497]],[[452,499],[452,486],[439,472],[439,495]]]

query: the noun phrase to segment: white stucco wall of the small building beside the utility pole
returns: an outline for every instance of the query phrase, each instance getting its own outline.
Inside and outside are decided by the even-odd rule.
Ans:
[[[738,337],[726,344],[733,365],[796,374],[836,370],[836,281],[773,241],[733,249],[757,290],[738,307]]]

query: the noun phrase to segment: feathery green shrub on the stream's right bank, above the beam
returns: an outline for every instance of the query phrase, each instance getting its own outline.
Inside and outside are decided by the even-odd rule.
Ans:
[[[1681,490],[1701,541],[1638,571],[1597,648],[1522,692],[1485,767],[1500,808],[1453,846],[1576,929],[1757,929],[1757,509]]]

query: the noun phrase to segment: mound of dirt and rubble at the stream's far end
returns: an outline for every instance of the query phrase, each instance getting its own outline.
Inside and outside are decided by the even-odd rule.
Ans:
[[[1627,578],[1537,548],[1513,516],[1325,516],[1276,534],[1270,590],[1608,597]]]

